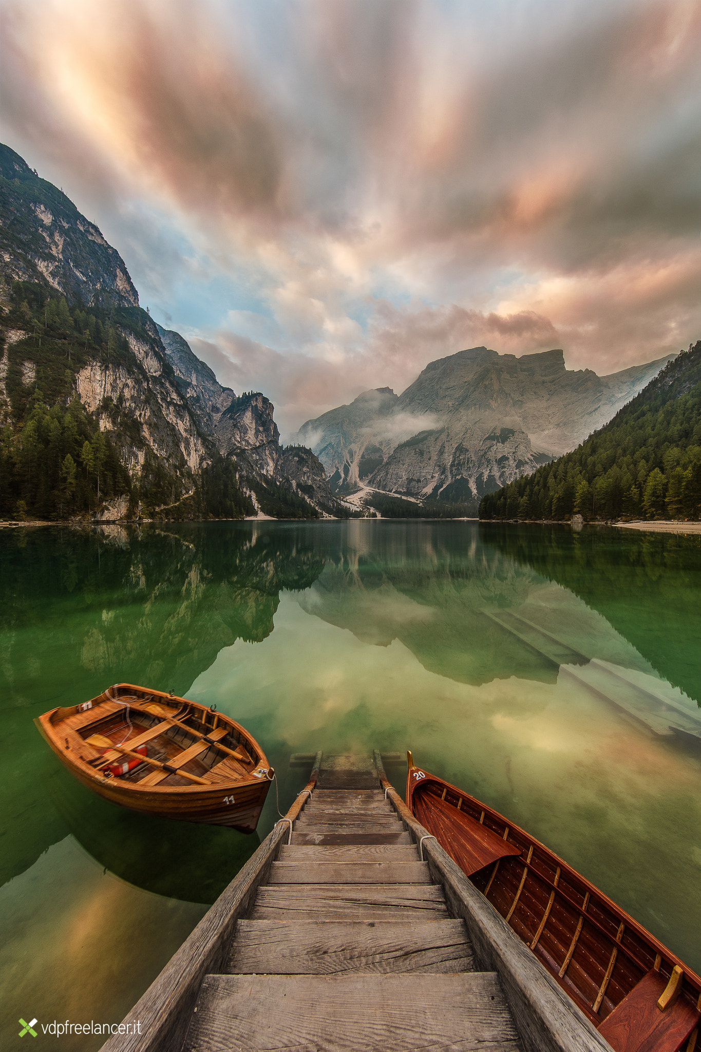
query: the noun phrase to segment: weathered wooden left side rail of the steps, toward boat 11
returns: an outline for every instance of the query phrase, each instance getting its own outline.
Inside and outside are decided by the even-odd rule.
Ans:
[[[321,760],[319,752],[307,783],[309,789],[314,787]],[[298,796],[292,804],[287,812],[290,818],[297,816],[303,800]],[[287,828],[283,823],[266,836],[128,1013],[124,1023],[139,1019],[141,1033],[115,1034],[101,1052],[173,1052],[181,1048],[203,976],[221,968],[226,959],[235,923],[249,911],[259,885],[267,879]]]

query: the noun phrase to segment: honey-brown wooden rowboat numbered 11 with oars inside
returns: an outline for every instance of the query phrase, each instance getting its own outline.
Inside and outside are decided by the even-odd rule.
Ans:
[[[112,804],[244,833],[257,825],[274,772],[215,706],[120,683],[35,723],[70,773]]]

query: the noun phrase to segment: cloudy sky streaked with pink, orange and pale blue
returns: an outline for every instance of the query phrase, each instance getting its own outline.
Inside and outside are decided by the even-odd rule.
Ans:
[[[433,359],[701,338],[697,0],[0,0],[1,138],[289,438]]]

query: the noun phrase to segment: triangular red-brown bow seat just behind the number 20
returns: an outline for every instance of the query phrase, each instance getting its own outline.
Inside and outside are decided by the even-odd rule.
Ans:
[[[497,833],[469,815],[447,804],[439,796],[431,794],[431,817],[424,814],[424,793],[415,792],[416,817],[422,825],[430,823],[432,829],[446,850],[457,863],[467,876],[471,876],[484,866],[490,866],[498,858],[508,855],[519,855],[521,849],[508,844]]]

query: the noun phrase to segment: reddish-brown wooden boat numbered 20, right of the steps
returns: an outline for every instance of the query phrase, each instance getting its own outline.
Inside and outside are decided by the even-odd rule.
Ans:
[[[701,978],[535,837],[407,755],[416,820],[616,1052],[693,1052]]]

